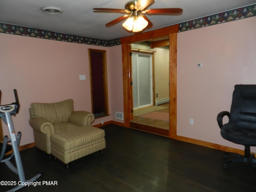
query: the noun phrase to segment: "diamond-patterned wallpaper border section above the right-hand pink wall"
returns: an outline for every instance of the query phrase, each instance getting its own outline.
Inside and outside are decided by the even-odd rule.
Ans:
[[[252,16],[256,16],[256,4],[180,23],[178,32],[211,26]]]

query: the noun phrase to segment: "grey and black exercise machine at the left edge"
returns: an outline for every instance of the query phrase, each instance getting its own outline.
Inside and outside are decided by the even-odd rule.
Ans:
[[[19,112],[20,104],[18,100],[18,94],[17,90],[14,89],[14,96],[16,102],[7,104],[7,105],[0,105],[0,118],[4,121],[4,123],[8,126],[10,138],[8,136],[4,136],[4,142],[0,143],[0,163],[5,163],[10,170],[12,170],[14,173],[18,174],[20,182],[16,183],[16,187],[14,187],[12,190],[9,191],[16,191],[22,187],[24,187],[27,183],[36,181],[42,174],[37,174],[36,176],[32,177],[30,180],[25,179],[24,170],[22,166],[22,161],[20,158],[20,152],[19,152],[19,144],[20,144],[20,137],[21,132],[18,132],[16,135],[13,122],[12,122],[12,116],[15,116]],[[1,90],[0,90],[0,98],[1,98]],[[11,142],[11,145],[8,144]],[[13,149],[12,154],[5,158],[5,154],[7,152],[10,152]],[[12,158],[15,158],[16,167],[10,162]]]

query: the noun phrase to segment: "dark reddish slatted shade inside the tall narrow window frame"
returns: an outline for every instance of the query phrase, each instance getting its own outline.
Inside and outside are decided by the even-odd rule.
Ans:
[[[93,113],[105,113],[103,52],[90,51]]]

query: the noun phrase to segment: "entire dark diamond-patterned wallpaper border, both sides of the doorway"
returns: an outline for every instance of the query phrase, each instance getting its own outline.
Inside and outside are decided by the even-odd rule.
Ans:
[[[205,26],[211,26],[214,24],[220,24],[220,23],[248,18],[252,16],[256,16],[256,4],[251,6],[246,6],[244,8],[238,8],[238,9],[222,12],[219,14],[214,14],[211,16],[206,16],[203,18],[180,23],[178,32],[183,32],[183,31],[201,28]],[[106,47],[111,47],[111,46],[116,46],[121,44],[120,39],[100,40],[96,38],[56,33],[56,32],[51,32],[46,30],[18,26],[18,25],[5,24],[1,22],[0,22],[0,33],[44,38],[44,39],[64,41],[64,42],[106,46]]]

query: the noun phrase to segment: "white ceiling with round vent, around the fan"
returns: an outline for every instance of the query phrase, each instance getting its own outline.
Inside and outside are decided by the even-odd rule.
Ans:
[[[0,0],[0,22],[52,32],[113,40],[130,36],[122,23],[112,27],[105,24],[122,16],[116,13],[94,13],[92,8],[123,9],[129,0]],[[256,0],[155,0],[153,8],[182,8],[180,16],[151,15],[150,30],[182,23],[188,20],[256,4]],[[64,10],[60,15],[45,14],[43,6]]]

